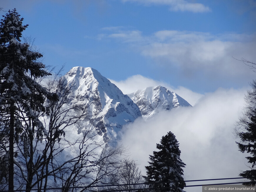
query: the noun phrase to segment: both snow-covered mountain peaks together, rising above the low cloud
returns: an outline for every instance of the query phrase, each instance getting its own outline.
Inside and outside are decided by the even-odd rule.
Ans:
[[[147,87],[125,95],[99,71],[90,67],[73,67],[63,76],[71,87],[74,98],[88,105],[88,113],[94,122],[85,121],[77,128],[78,133],[89,126],[104,126],[99,132],[107,141],[117,138],[123,125],[134,122],[138,117],[144,120],[161,110],[179,106],[191,106],[186,100],[162,86]],[[70,103],[72,105],[72,103]]]

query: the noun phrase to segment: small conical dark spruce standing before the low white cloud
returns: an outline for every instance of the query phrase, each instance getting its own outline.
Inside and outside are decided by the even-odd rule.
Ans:
[[[155,188],[154,192],[182,192],[186,186],[182,167],[186,164],[180,159],[179,143],[171,131],[162,136],[157,149],[153,156],[149,155],[149,166],[146,166],[149,188]]]

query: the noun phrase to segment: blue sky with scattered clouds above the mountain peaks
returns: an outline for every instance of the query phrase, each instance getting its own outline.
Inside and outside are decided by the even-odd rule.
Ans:
[[[1,7],[17,9],[44,64],[65,64],[63,73],[92,67],[114,81],[142,75],[200,94],[248,86],[255,76],[232,57],[256,61],[256,1],[10,0]]]

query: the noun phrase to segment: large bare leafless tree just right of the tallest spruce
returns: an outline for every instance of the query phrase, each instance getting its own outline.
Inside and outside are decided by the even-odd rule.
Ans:
[[[61,187],[60,191],[67,192],[74,191],[70,189],[74,186],[103,183],[119,167],[117,157],[123,148],[108,147],[108,141],[99,135],[105,132],[103,122],[88,115],[90,104],[74,98],[66,79],[55,76],[46,85],[54,91],[45,102],[46,111],[38,113],[38,118],[47,133],[43,138],[36,137],[33,121],[22,123],[31,129],[16,142],[16,184],[26,191]],[[83,129],[80,134],[79,129]]]

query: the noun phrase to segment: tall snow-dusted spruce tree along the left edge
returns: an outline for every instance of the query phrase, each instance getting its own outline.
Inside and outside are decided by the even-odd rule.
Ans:
[[[0,116],[4,117],[0,128],[8,136],[5,145],[5,161],[8,167],[9,191],[14,190],[14,141],[22,132],[41,138],[45,132],[34,111],[44,111],[43,103],[48,92],[35,80],[49,75],[44,64],[35,62],[42,57],[38,52],[29,51],[29,45],[21,43],[23,18],[16,9],[8,11],[0,22]],[[9,160],[6,162],[6,159]],[[31,159],[27,159],[31,161]],[[32,162],[32,161],[31,161]],[[6,167],[6,168],[7,168]],[[2,168],[3,169],[3,168]]]

